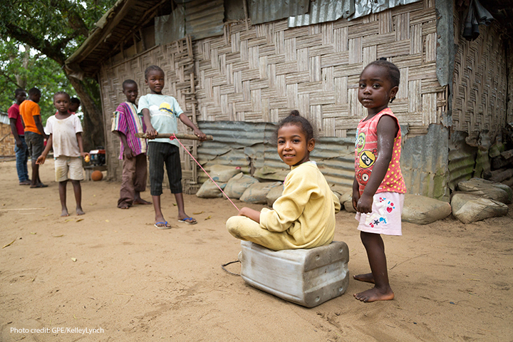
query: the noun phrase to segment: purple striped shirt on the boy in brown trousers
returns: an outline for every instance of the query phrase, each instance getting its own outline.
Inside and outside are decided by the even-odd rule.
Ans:
[[[123,102],[118,105],[113,116],[112,132],[116,135],[119,135],[119,132],[126,135],[128,146],[132,150],[133,155],[146,153],[146,139],[135,138],[135,133],[145,133],[146,130],[142,116],[137,113],[137,107],[133,103]],[[120,145],[120,159],[123,159],[123,151],[125,151],[125,146],[123,146],[122,141]]]

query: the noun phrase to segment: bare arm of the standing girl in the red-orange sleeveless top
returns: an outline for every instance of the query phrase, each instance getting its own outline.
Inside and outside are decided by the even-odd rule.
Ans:
[[[371,173],[371,177],[367,182],[365,190],[358,203],[356,210],[363,214],[372,212],[373,196],[378,190],[383,178],[388,170],[390,160],[392,160],[393,143],[395,135],[398,133],[398,125],[389,115],[383,115],[378,123],[378,157],[376,158]],[[354,200],[354,185],[353,185]]]

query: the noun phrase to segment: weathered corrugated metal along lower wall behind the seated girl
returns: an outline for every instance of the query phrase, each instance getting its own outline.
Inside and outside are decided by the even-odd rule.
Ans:
[[[202,121],[199,128],[214,141],[198,147],[198,161],[211,165],[241,167],[242,172],[266,180],[284,180],[289,168],[274,145],[276,125],[237,121]],[[350,190],[354,179],[354,138],[318,138],[310,155],[332,185]],[[200,175],[200,182],[207,180]]]

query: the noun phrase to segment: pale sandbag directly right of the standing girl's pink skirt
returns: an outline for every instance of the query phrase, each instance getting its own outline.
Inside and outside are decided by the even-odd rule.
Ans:
[[[451,213],[451,206],[438,199],[420,196],[405,195],[401,219],[415,224],[430,224],[439,219],[445,219]]]

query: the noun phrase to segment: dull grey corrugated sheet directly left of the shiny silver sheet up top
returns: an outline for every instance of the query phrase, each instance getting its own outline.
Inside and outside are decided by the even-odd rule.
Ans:
[[[310,0],[248,0],[249,18],[254,25],[299,16],[308,13],[309,3]]]

